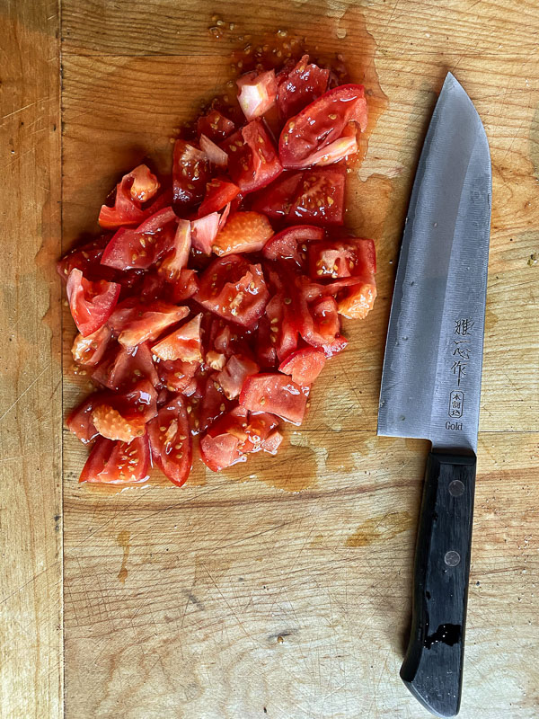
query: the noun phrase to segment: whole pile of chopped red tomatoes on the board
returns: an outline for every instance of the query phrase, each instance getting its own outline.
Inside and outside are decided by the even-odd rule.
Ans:
[[[308,56],[237,84],[241,123],[200,117],[172,178],[124,175],[103,234],[58,262],[97,386],[67,418],[93,443],[81,482],[140,483],[155,464],[180,486],[195,437],[214,471],[276,454],[347,344],[340,315],[375,301],[372,240],[339,230],[363,86],[331,86]]]

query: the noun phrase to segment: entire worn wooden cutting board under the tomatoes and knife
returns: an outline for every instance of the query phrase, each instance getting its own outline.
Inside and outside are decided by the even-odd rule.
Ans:
[[[427,715],[398,679],[427,443],[377,438],[376,407],[405,208],[451,70],[493,165],[461,716],[535,717],[539,5],[63,0],[58,13],[22,0],[2,11],[0,714]],[[87,380],[71,370],[53,262],[96,231],[120,173],[170,155],[175,128],[229,79],[231,50],[278,29],[341,53],[373,106],[387,98],[347,220],[376,240],[376,308],[345,324],[349,348],[278,457],[220,475],[198,463],[182,489],[79,486],[85,451],[61,427]]]

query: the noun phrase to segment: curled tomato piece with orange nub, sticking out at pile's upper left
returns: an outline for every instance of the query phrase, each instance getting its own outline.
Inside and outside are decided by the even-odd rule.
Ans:
[[[148,212],[142,204],[152,200],[159,190],[159,182],[146,164],[139,164],[132,172],[124,175],[116,186],[114,207],[103,205],[99,213],[102,227],[139,225]]]

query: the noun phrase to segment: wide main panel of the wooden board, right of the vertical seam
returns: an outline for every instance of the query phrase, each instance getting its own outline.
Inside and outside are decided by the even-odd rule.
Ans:
[[[233,31],[208,33],[216,11]],[[316,53],[374,61],[388,110],[350,192],[376,239],[379,297],[282,454],[181,491],[96,492],[65,433],[66,717],[351,719],[424,715],[400,680],[427,445],[376,438],[402,223],[446,71],[490,141],[493,213],[472,583],[461,716],[539,710],[539,6],[517,0],[217,4],[64,0],[64,236],[230,76],[238,42],[286,26]],[[248,36],[252,35],[252,38]],[[72,325],[65,322],[65,366]],[[66,408],[86,391],[66,372]],[[291,490],[303,488],[301,493]]]

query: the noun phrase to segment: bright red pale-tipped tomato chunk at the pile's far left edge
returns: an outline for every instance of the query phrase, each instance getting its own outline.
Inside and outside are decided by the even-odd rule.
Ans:
[[[118,302],[119,284],[98,280],[92,282],[76,268],[67,278],[67,300],[77,330],[87,337],[99,330],[109,319]]]

